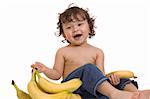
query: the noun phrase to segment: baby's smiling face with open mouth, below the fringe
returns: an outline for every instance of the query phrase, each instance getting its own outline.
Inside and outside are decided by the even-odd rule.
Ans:
[[[90,28],[87,20],[74,19],[71,22],[63,23],[64,37],[72,45],[81,45],[87,42],[90,33]]]

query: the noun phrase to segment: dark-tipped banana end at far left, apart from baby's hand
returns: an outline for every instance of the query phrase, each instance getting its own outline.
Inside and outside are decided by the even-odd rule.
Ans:
[[[16,89],[18,99],[32,99],[28,93],[26,93],[18,88],[18,86],[16,85],[14,80],[12,80],[11,84]]]

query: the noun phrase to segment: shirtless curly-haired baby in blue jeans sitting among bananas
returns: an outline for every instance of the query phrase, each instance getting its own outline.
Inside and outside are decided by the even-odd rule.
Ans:
[[[59,36],[68,42],[56,52],[53,68],[40,62],[31,65],[48,78],[66,82],[80,78],[82,86],[74,93],[82,99],[150,99],[150,90],[138,91],[130,79],[120,79],[118,75],[105,76],[104,53],[92,46],[87,39],[95,35],[94,21],[88,11],[69,7],[59,15],[57,23]]]

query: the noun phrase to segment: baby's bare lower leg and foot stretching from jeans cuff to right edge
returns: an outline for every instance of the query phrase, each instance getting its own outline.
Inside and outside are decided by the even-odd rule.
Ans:
[[[110,99],[150,99],[150,90],[128,92],[114,88],[109,82],[104,81],[97,87],[97,91]]]

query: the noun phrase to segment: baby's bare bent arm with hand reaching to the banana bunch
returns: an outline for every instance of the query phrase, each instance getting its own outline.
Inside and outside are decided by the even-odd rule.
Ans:
[[[63,54],[60,49],[56,52],[55,63],[52,69],[46,67],[44,64],[40,62],[35,62],[35,64],[33,64],[31,67],[37,68],[39,72],[44,73],[50,79],[58,80],[61,78],[64,69]]]

